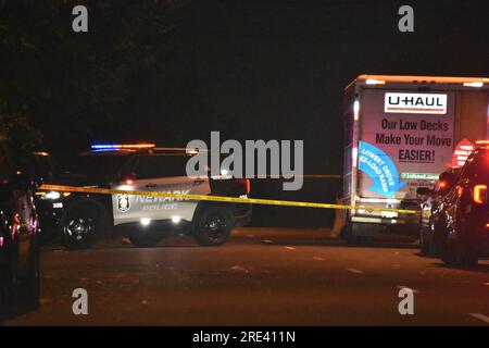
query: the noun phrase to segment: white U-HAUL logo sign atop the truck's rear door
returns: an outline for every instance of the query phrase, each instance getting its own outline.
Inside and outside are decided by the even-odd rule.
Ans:
[[[447,95],[386,92],[386,113],[447,113]]]

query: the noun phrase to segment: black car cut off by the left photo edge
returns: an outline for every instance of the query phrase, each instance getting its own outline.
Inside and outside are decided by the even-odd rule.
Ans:
[[[39,221],[34,179],[0,138],[0,319],[39,304]]]

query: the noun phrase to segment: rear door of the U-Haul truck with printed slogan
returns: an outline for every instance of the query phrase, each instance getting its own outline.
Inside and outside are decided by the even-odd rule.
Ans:
[[[366,88],[361,105],[360,196],[415,199],[451,163],[454,94]]]

